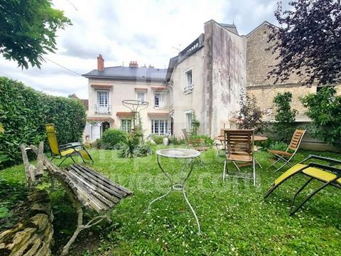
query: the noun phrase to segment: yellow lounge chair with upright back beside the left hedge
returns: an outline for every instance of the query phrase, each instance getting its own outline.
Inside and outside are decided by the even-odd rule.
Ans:
[[[75,163],[75,160],[72,158],[72,155],[78,155],[82,158],[82,161],[85,162],[91,161],[93,163],[89,152],[83,147],[80,143],[69,143],[69,144],[63,144],[59,145],[57,140],[57,134],[55,132],[55,125],[54,124],[45,124],[46,134],[48,136],[48,144],[50,146],[51,150],[51,156],[52,159],[63,159],[59,166],[63,164],[65,159],[70,157],[72,161]]]

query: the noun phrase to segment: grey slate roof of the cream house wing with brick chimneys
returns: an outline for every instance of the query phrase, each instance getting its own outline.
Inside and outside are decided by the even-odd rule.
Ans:
[[[165,82],[166,68],[131,68],[131,67],[110,67],[104,70],[94,69],[84,74],[85,78],[110,78],[117,80],[141,80],[151,82]]]

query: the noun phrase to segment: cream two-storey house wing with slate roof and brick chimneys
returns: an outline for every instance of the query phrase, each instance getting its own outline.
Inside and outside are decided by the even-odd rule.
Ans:
[[[102,55],[97,57],[97,69],[86,73],[89,79],[89,111],[85,137],[90,141],[102,137],[107,128],[131,131],[131,111],[122,100],[148,102],[141,112],[145,134],[167,134],[171,127],[166,97],[166,69],[141,67],[131,62],[129,67],[104,67]]]

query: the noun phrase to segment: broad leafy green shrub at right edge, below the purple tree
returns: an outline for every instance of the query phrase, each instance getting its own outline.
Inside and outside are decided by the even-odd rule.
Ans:
[[[316,94],[301,98],[308,109],[307,116],[313,122],[313,137],[324,142],[341,145],[341,96],[336,95],[333,87],[323,87]]]

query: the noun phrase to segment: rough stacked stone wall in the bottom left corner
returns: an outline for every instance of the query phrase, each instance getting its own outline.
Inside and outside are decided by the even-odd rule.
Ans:
[[[53,245],[53,213],[46,191],[34,189],[19,208],[21,220],[0,233],[0,255],[49,256]]]

